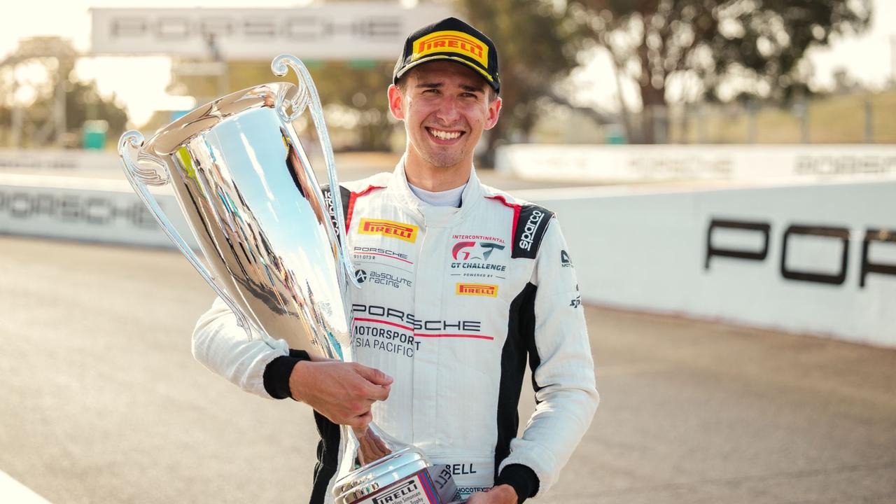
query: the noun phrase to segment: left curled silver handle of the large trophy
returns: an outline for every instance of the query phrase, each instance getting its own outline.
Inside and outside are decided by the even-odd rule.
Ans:
[[[121,135],[121,139],[118,140],[118,157],[121,158],[122,163],[125,164],[125,177],[128,182],[131,183],[131,186],[134,187],[134,192],[137,193],[137,196],[140,197],[143,204],[146,205],[146,208],[148,208],[152,216],[155,217],[156,222],[159,222],[159,227],[165,231],[165,234],[168,235],[168,239],[171,239],[171,241],[174,242],[177,249],[180,250],[180,253],[190,261],[190,264],[196,268],[196,271],[202,275],[202,278],[211,286],[211,289],[218,294],[220,299],[227,303],[230,310],[233,311],[233,314],[237,317],[237,324],[246,331],[246,336],[250,340],[253,339],[251,326],[246,319],[246,316],[243,314],[243,311],[237,308],[237,303],[235,303],[228,293],[221,289],[214,281],[214,275],[202,264],[193,249],[186,244],[184,238],[177,232],[177,229],[170,221],[168,221],[168,216],[165,215],[165,212],[159,206],[159,202],[156,201],[155,196],[152,196],[147,188],[147,186],[164,186],[168,184],[170,176],[168,175],[168,169],[165,168],[165,163],[159,161],[148,152],[142,152],[142,145],[143,135],[139,131],[126,131],[124,135]],[[138,152],[137,161],[145,161],[144,165],[155,165],[155,169],[142,168],[139,162],[134,161],[131,158],[130,153],[130,149],[132,148],[136,149]],[[260,334],[263,335],[263,333]]]

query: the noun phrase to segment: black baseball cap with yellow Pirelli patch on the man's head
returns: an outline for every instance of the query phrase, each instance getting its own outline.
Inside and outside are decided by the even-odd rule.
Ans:
[[[495,44],[484,33],[457,18],[445,18],[411,33],[395,64],[392,83],[397,84],[401,75],[411,68],[436,59],[470,66],[495,92],[501,91]]]

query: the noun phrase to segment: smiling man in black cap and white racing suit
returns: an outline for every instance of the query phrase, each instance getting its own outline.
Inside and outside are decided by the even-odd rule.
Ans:
[[[544,494],[598,405],[573,263],[554,214],[482,185],[473,151],[501,111],[495,45],[448,18],[412,33],[389,87],[407,147],[392,173],[339,187],[361,289],[356,363],[242,341],[220,301],[194,354],[247,390],[314,407],[312,504],[331,502],[336,423],[422,448],[469,504]],[[230,340],[237,339],[237,343]],[[526,364],[536,412],[518,436]]]

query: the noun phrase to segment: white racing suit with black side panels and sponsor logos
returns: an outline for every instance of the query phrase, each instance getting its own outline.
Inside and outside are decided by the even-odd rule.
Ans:
[[[330,197],[329,188],[324,191]],[[460,208],[431,206],[393,173],[340,187],[349,250],[356,360],[394,378],[374,421],[445,465],[464,494],[508,483],[543,494],[598,405],[573,263],[554,215],[479,183]],[[341,234],[341,233],[340,233]],[[217,300],[194,332],[194,355],[247,391],[289,396],[304,358],[286,343],[247,341]],[[517,437],[526,362],[536,412]],[[339,430],[316,415],[322,440],[314,504],[331,502]]]

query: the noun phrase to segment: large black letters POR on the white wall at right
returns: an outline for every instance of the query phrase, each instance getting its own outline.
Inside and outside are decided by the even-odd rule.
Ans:
[[[713,236],[720,230],[726,233],[748,233],[760,240],[759,247],[717,247],[713,243]],[[706,256],[703,268],[710,270],[713,257],[729,257],[743,261],[765,261],[769,256],[769,249],[773,233],[771,223],[762,221],[737,221],[730,219],[712,219],[706,230]],[[803,269],[788,265],[788,249],[793,239],[800,236],[809,236],[816,239],[831,241],[831,246],[836,247],[838,257],[832,264],[822,265],[809,269]],[[819,224],[790,224],[781,233],[781,277],[797,282],[827,283],[842,285],[846,282],[849,270],[849,240],[851,232],[849,228],[842,226],[829,226]],[[872,254],[874,249],[896,249],[896,230],[883,230],[880,228],[868,228],[862,239],[862,256],[859,258],[858,286],[865,288],[870,274],[896,276],[896,262],[886,263],[878,259],[874,262]],[[829,273],[833,272],[833,273]]]

